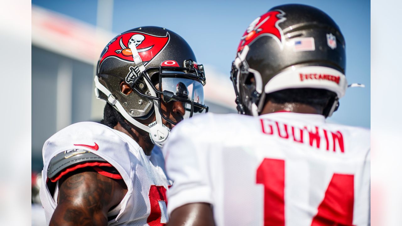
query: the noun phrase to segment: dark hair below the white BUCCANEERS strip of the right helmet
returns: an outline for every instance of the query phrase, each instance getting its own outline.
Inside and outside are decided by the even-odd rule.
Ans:
[[[291,88],[267,94],[265,103],[268,101],[277,104],[301,103],[310,105],[316,109],[325,109],[325,107],[328,105],[328,101],[334,99],[335,97],[335,92],[326,89]]]

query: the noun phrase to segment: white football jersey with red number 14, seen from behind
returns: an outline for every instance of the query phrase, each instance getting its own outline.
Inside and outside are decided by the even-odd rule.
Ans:
[[[370,131],[322,115],[208,113],[179,123],[163,150],[168,214],[213,207],[215,223],[368,225]]]

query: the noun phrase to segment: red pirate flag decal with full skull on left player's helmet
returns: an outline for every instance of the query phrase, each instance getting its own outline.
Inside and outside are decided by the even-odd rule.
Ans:
[[[121,34],[106,46],[106,51],[100,58],[99,65],[109,57],[134,62],[131,47],[137,49],[143,62],[150,62],[168,44],[169,39],[168,32],[165,36],[150,35],[139,31]]]

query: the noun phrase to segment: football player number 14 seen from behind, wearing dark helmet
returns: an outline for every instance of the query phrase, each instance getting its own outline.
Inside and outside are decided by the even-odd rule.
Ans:
[[[370,131],[325,121],[348,87],[345,62],[317,8],[256,18],[232,65],[240,115],[185,121],[162,150],[169,225],[369,225]]]

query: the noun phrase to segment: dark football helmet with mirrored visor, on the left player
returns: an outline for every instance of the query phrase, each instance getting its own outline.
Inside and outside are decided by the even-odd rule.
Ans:
[[[123,94],[122,82],[133,92]],[[175,124],[162,113],[161,101],[183,102],[189,117],[204,109],[207,112],[204,85],[203,66],[197,64],[191,47],[178,34],[160,27],[138,27],[117,35],[106,45],[96,66],[96,97],[150,133],[152,142],[160,147],[170,133],[162,118]],[[150,125],[137,121],[153,113],[156,121]]]

